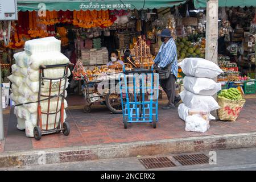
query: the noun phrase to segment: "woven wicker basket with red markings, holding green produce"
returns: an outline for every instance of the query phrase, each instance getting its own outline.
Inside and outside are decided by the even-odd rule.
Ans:
[[[245,100],[232,101],[225,98],[217,97],[220,109],[217,110],[218,118],[221,121],[236,121],[240,111],[245,105]]]

